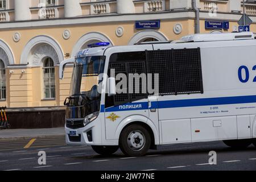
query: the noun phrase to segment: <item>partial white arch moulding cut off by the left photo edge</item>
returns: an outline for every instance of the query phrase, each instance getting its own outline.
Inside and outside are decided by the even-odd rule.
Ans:
[[[0,39],[0,59],[5,63],[5,67],[15,64],[13,51],[3,40]]]

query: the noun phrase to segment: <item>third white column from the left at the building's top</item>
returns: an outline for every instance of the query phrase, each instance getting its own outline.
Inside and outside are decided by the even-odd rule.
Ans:
[[[117,13],[119,14],[135,13],[133,0],[117,0]]]

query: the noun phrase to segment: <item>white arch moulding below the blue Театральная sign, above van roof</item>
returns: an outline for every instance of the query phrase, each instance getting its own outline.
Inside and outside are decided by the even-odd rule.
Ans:
[[[134,45],[146,38],[154,38],[159,41],[167,41],[168,40],[167,37],[162,32],[148,29],[148,30],[142,30],[142,31],[137,32],[137,34],[135,34],[133,36],[133,38],[130,39],[130,42],[128,43],[128,45],[129,46]]]

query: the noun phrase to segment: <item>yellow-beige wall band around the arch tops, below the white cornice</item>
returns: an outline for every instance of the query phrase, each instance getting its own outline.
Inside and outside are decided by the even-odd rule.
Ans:
[[[175,40],[179,39],[181,36],[187,35],[193,28],[187,23],[188,20],[180,20],[183,24],[183,32],[180,35],[176,35],[172,31],[176,21],[170,22],[163,20],[161,23],[161,28],[159,29],[162,34],[166,35],[168,39]],[[202,23],[203,25],[203,23]],[[125,29],[125,34],[118,38],[115,35],[115,29],[118,26],[122,26]],[[104,27],[104,28],[102,28]],[[63,39],[63,31],[68,29],[71,31],[71,38],[68,40]],[[65,27],[48,27],[48,28],[36,28],[36,29],[15,29],[15,30],[0,30],[0,39],[6,42],[10,48],[13,50],[15,64],[20,64],[20,56],[26,44],[34,37],[38,35],[47,35],[56,40],[60,44],[64,53],[71,53],[73,46],[81,38],[81,36],[89,32],[101,32],[102,34],[108,36],[112,40],[115,46],[127,45],[131,37],[136,34],[139,30],[134,30],[134,22],[131,23],[108,23],[108,24],[88,24],[84,26],[65,26]],[[13,41],[13,35],[15,32],[19,32],[21,39],[18,43]],[[14,51],[15,50],[15,51]]]

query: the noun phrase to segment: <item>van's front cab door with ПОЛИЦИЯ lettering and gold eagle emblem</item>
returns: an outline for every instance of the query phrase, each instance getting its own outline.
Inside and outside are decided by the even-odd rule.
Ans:
[[[115,76],[117,94],[110,97],[106,94],[105,98],[107,140],[117,139],[115,131],[127,118],[147,121],[148,99],[145,85],[147,80],[143,73],[146,73],[144,51],[118,52],[110,56],[108,75]]]

